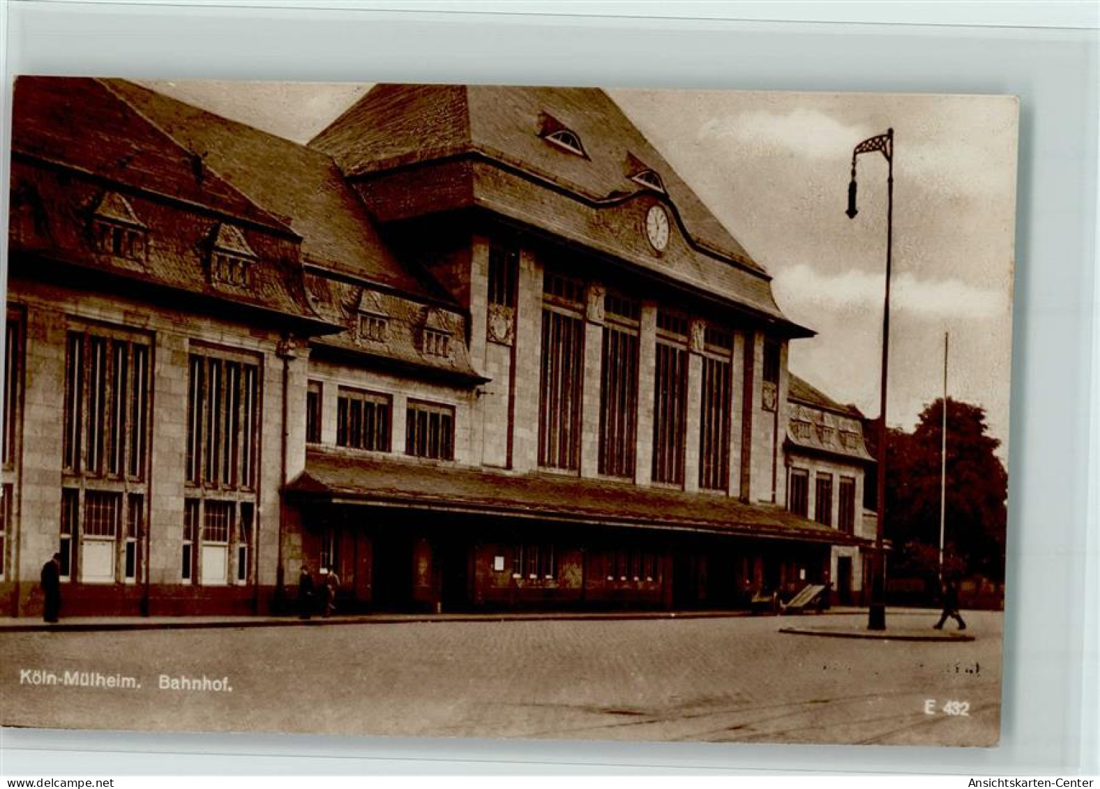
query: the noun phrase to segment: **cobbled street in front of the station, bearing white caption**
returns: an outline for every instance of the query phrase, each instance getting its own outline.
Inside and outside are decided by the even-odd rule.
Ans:
[[[2,633],[0,714],[153,731],[993,745],[1002,616],[965,615],[971,643],[788,635],[792,620],[777,617]],[[141,687],[34,683],[26,670]],[[228,678],[231,691],[162,690],[160,675]],[[952,701],[967,714],[944,712]]]

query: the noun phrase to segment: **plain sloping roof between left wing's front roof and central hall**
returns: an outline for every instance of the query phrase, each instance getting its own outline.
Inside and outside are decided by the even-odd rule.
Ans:
[[[133,83],[105,83],[234,187],[283,218],[302,239],[305,263],[411,296],[449,300],[430,277],[394,257],[327,154]]]

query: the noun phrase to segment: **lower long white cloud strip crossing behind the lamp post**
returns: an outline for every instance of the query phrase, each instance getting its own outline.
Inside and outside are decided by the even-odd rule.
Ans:
[[[823,274],[805,263],[777,274],[773,285],[781,303],[790,299],[832,309],[877,309],[883,297],[881,274],[856,270]],[[925,318],[986,319],[1005,315],[1009,294],[959,280],[922,280],[904,273],[893,278],[890,307]]]

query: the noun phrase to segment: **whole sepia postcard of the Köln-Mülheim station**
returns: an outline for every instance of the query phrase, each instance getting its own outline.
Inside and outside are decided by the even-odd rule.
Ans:
[[[998,745],[1014,97],[11,116],[0,725]]]

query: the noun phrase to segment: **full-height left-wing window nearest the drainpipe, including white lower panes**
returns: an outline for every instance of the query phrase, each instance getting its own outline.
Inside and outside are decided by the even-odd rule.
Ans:
[[[232,351],[189,360],[186,498],[180,578],[226,585],[252,581],[260,452],[260,363]]]

